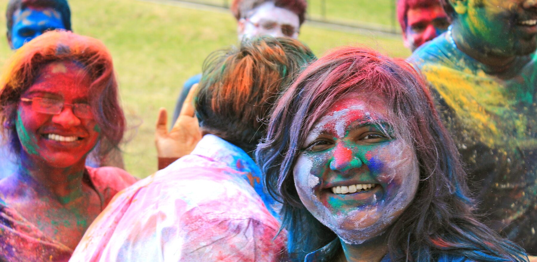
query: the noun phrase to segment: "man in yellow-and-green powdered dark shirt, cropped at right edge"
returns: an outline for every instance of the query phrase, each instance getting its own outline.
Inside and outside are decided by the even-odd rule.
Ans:
[[[410,57],[437,96],[489,226],[537,255],[537,1],[444,0],[453,24]]]

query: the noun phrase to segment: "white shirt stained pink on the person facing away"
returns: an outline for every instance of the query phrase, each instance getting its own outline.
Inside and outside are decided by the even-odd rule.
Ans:
[[[286,258],[278,221],[244,172],[223,161],[234,153],[226,143],[206,135],[191,155],[118,193],[69,261]]]

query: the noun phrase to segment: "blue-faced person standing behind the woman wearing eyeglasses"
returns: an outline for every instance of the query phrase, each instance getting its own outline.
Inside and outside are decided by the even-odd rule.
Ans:
[[[71,30],[71,11],[66,0],[10,0],[6,9],[7,39],[16,50],[37,36],[54,29]],[[16,156],[8,147],[0,146],[0,178],[16,170]],[[91,167],[113,166],[124,168],[121,151],[114,148],[106,155],[92,152],[86,159]]]

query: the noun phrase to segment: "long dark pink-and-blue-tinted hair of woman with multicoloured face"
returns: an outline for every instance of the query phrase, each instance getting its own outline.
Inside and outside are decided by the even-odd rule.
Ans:
[[[332,50],[300,74],[273,109],[267,137],[256,151],[267,189],[283,203],[292,259],[303,261],[336,238],[296,192],[292,170],[300,145],[335,101],[357,91],[386,98],[396,116],[390,126],[411,141],[419,161],[416,196],[387,232],[393,261],[437,261],[447,254],[483,262],[526,261],[519,246],[471,214],[465,171],[422,77],[403,60],[358,47]]]

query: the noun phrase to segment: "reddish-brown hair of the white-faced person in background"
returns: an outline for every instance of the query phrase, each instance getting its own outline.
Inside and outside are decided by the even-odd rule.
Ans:
[[[234,0],[231,3],[231,13],[237,20],[247,18],[252,9],[266,2],[274,2],[274,5],[279,8],[291,10],[299,16],[301,25],[306,20],[306,9],[308,8],[306,0]]]

